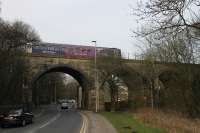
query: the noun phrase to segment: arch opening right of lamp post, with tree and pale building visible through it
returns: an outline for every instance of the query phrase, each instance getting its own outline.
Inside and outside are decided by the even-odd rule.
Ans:
[[[119,111],[127,109],[128,87],[120,77],[111,75],[109,79],[101,86],[100,94],[104,99],[100,103],[104,105],[102,109],[106,111]],[[101,108],[100,108],[101,109]]]

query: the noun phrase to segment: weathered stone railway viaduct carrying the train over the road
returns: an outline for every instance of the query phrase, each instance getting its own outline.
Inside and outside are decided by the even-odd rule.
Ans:
[[[82,107],[85,109],[94,110],[95,109],[95,89],[94,89],[94,59],[87,59],[87,58],[64,58],[64,57],[50,57],[50,56],[35,56],[35,55],[28,55],[28,60],[31,64],[31,88],[34,88],[34,84],[37,82],[37,80],[42,77],[43,75],[51,72],[63,72],[66,74],[71,75],[74,77],[80,84],[80,86],[83,88],[83,103]],[[98,61],[97,61],[98,62]],[[135,80],[137,76],[141,76],[145,78],[145,74],[143,73],[143,70],[145,69],[144,61],[138,61],[138,60],[125,60],[123,59],[123,63],[127,65],[129,68],[134,71],[135,77],[132,76],[131,78],[126,75],[122,78],[125,83],[127,83],[127,86],[129,90],[137,90],[141,87],[144,87],[144,83],[141,81]],[[173,64],[173,63],[157,63],[154,76],[156,80],[157,86],[165,86],[164,81],[161,80],[161,75],[170,73],[177,73],[179,69],[182,68],[192,68],[191,70],[196,70],[199,72],[199,65],[189,65],[189,64]],[[194,75],[196,75],[195,73]],[[199,73],[198,73],[199,74]],[[194,77],[193,75],[193,77]],[[148,76],[148,73],[146,74]],[[128,79],[129,78],[129,79]],[[129,80],[129,82],[126,80]],[[134,81],[131,81],[134,80]],[[140,84],[139,86],[136,85],[136,82]],[[177,83],[177,86],[180,86],[180,84]],[[131,93],[132,91],[129,91],[129,97],[134,97],[134,93]],[[34,97],[34,92],[32,91],[32,96]],[[102,98],[100,98],[102,99]],[[103,109],[104,105],[103,102],[100,101],[100,109]]]

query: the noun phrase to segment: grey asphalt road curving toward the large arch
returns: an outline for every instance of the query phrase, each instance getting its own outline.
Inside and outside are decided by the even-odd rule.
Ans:
[[[80,133],[82,117],[76,110],[61,110],[59,106],[46,107],[33,124],[25,127],[0,128],[0,133]]]

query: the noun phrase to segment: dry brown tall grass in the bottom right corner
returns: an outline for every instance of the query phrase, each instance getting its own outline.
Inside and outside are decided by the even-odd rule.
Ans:
[[[189,119],[177,113],[141,109],[135,117],[145,124],[165,129],[168,133],[200,133],[200,120]]]

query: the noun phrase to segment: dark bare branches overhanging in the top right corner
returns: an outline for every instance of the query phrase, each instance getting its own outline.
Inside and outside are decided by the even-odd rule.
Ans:
[[[139,21],[148,23],[138,35],[146,36],[162,31],[176,35],[182,31],[189,33],[190,28],[200,30],[199,0],[150,0],[138,2],[134,15]],[[136,32],[138,33],[138,32]]]

